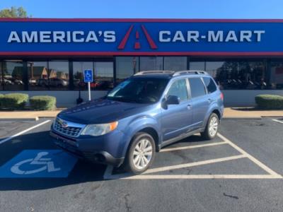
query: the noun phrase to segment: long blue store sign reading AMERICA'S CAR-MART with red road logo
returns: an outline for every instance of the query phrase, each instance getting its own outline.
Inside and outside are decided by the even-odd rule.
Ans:
[[[283,52],[283,23],[216,20],[1,21],[1,52],[194,54]]]

